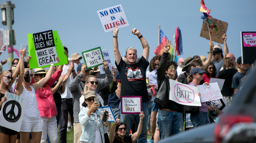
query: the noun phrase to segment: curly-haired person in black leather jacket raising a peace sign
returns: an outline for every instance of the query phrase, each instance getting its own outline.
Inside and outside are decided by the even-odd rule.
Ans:
[[[170,42],[167,40],[157,68],[158,94],[154,99],[154,102],[159,106],[157,124],[161,139],[182,132],[184,126],[183,105],[169,100],[169,80],[174,78],[178,66],[175,61],[167,61],[169,49]]]

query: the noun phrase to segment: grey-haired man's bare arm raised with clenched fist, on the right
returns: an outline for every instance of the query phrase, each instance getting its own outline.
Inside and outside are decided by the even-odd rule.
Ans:
[[[149,46],[148,46],[146,39],[141,35],[141,33],[136,28],[132,29],[132,34],[137,35],[138,38],[141,40],[141,45],[143,47],[142,56],[148,61]]]

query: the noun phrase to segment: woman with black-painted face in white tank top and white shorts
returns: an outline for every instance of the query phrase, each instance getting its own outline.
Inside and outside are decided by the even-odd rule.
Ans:
[[[21,53],[21,59],[24,59],[24,56],[26,54],[26,49],[24,50],[25,50],[25,53],[24,52]],[[33,74],[31,70],[28,68],[24,70],[24,60],[20,60],[20,61],[21,63],[19,65],[20,67],[19,79],[15,87],[16,94],[28,99],[25,112],[23,115],[23,119],[22,119],[22,125],[20,127],[20,141],[28,142],[29,134],[31,132],[33,142],[39,143],[41,141],[41,136],[42,136],[42,123],[41,123],[40,112],[37,107],[37,98],[36,98],[35,91],[41,88],[44,84],[46,84],[46,82],[51,78],[51,73],[54,68],[54,65],[52,64],[50,66],[49,71],[44,78],[42,78],[36,83],[29,85],[31,83]],[[57,126],[57,123],[56,123],[56,126]]]

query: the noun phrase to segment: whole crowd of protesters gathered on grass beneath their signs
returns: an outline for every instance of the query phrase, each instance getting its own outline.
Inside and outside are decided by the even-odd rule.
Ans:
[[[193,58],[180,58],[177,63],[169,59],[168,40],[163,54],[148,61],[149,45],[136,28],[132,29],[132,34],[141,41],[142,56],[137,57],[137,50],[129,47],[125,57],[122,57],[118,47],[118,31],[117,27],[113,31],[117,68],[112,66],[110,69],[108,62],[103,60],[104,75],[98,74],[96,67],[87,69],[85,63],[80,63],[82,57],[78,53],[69,58],[65,46],[63,52],[68,63],[59,66],[51,64],[48,71],[45,68],[30,69],[31,56],[27,56],[24,62],[26,49],[20,49],[22,60],[14,59],[10,70],[0,68],[0,108],[7,100],[4,97],[6,91],[25,97],[28,101],[20,132],[0,126],[0,143],[66,143],[68,122],[72,125],[74,143],[146,143],[148,134],[157,142],[188,128],[208,124],[211,113],[217,112],[212,105],[207,107],[206,102],[201,102],[200,107],[189,107],[169,100],[169,80],[196,87],[208,85],[211,78],[225,79],[221,93],[227,98],[229,106],[242,87],[244,77],[251,71],[251,64],[242,64],[241,57],[235,61],[234,55],[228,53],[226,34],[222,36],[224,56],[222,47],[218,44],[214,46],[210,40],[207,59],[194,55]],[[6,46],[3,50],[6,50]],[[59,62],[59,57],[56,60]],[[6,62],[1,60],[1,64]],[[146,74],[148,66],[149,72]],[[200,93],[197,95],[200,96]],[[140,114],[121,114],[120,96],[141,96]],[[94,101],[95,98],[99,98],[99,102]],[[107,120],[102,121],[101,113],[97,110],[107,105],[111,106],[116,118],[112,126],[108,122],[109,115],[106,114]],[[191,108],[196,111],[189,112]]]

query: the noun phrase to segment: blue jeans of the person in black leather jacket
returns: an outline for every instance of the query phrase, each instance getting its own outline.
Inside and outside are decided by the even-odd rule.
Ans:
[[[183,115],[181,112],[158,110],[157,124],[161,139],[183,132]]]

